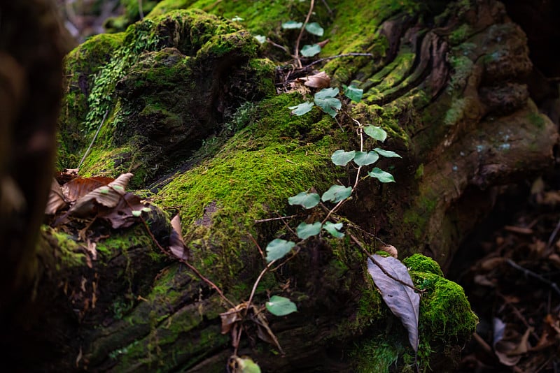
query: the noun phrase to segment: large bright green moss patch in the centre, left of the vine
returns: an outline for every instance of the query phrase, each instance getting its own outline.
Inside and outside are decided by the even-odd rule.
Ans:
[[[175,177],[155,197],[163,206],[183,206],[186,241],[200,258],[202,270],[214,268],[222,279],[235,278],[247,255],[244,251],[256,254],[247,242],[255,219],[283,211],[286,199],[300,191],[311,186],[326,190],[328,180],[335,180],[325,164],[337,145],[332,139],[321,147],[300,142],[305,133],[318,131],[317,126],[324,131],[325,122],[316,121],[314,115],[290,116],[287,107],[294,105],[295,97],[263,101],[260,117],[226,142],[214,159]],[[334,122],[329,120],[332,128]],[[211,231],[202,224],[204,219],[212,222]]]

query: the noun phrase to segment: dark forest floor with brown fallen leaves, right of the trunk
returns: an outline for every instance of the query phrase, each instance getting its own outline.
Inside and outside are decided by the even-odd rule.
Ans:
[[[560,372],[560,184],[549,179],[509,187],[455,258],[449,277],[479,316],[458,372]]]

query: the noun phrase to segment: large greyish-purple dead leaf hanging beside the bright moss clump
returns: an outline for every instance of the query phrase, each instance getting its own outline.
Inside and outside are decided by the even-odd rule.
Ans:
[[[388,256],[384,258],[377,254],[373,258],[381,265],[386,272],[390,273],[396,279],[414,286],[408,270],[404,264],[398,259]],[[386,305],[391,309],[391,312],[400,319],[402,325],[408,331],[408,341],[414,351],[418,351],[418,316],[420,309],[420,295],[416,294],[412,288],[405,286],[385,273],[372,262],[370,258],[367,259],[367,272],[370,273],[375,286],[381,291]]]

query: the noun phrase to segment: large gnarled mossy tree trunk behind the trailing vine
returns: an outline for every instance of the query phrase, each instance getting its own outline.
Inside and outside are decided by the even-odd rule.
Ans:
[[[298,312],[267,316],[281,356],[278,346],[260,342],[249,319],[237,354],[267,372],[412,369],[406,332],[367,275],[356,237],[372,252],[379,242],[393,244],[415,284],[428,289],[419,362],[443,372],[476,317],[434,261],[410,255],[447,268],[500,186],[552,163],[556,126],[531,99],[526,36],[502,3],[328,3],[316,4],[314,14],[330,38],[321,57],[372,57],[340,57],[323,68],[333,86],[364,90],[351,115],[389,133],[384,147],[403,158],[379,167],[397,183],[361,182],[337,215],[346,222],[344,240],[309,240],[262,277],[255,305],[283,295]],[[77,166],[100,126],[80,174],[132,172],[137,193],[161,210],[146,221],[149,233],[143,224],[43,226],[38,271],[21,287],[29,297],[22,309],[41,312],[31,313],[25,332],[13,328],[19,338],[6,349],[11,358],[47,370],[223,372],[233,349],[220,313],[230,305],[162,253],[170,227],[161,212],[179,213],[190,263],[237,305],[265,268],[258,246],[290,237],[269,218],[296,214],[287,221],[292,228],[308,219],[286,198],[337,180],[352,184],[356,171],[332,166],[330,154],[359,147],[353,122],[339,115],[337,123],[317,108],[290,115],[288,106],[304,98],[276,94],[275,71],[288,69],[265,56],[280,52],[244,29],[291,48],[297,33],[279,24],[304,18],[305,6],[165,0],[126,33],[95,36],[66,57],[59,167]],[[31,339],[44,354],[29,358]]]

